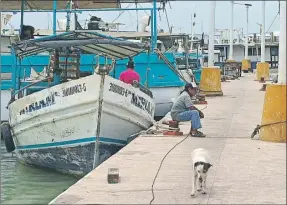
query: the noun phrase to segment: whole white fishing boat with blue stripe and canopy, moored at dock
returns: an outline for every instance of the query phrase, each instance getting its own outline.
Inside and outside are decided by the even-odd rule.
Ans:
[[[152,92],[108,75],[118,60],[147,49],[81,31],[13,42],[9,124],[1,127],[7,151],[25,164],[74,175],[98,166],[153,124]],[[83,53],[93,56],[89,71],[80,69],[88,60]],[[37,63],[23,66],[24,59],[40,54],[49,56],[41,75],[35,72]]]

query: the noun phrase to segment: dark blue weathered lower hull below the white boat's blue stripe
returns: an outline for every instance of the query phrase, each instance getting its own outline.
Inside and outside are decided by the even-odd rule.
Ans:
[[[20,162],[44,169],[51,169],[63,174],[84,176],[93,169],[95,138],[93,142],[80,143],[76,146],[55,146],[41,149],[18,149]],[[100,162],[119,151],[122,146],[100,143]]]

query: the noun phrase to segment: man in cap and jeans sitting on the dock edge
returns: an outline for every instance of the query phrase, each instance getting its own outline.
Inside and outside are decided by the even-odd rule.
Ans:
[[[191,83],[187,83],[181,94],[175,99],[170,111],[172,120],[191,121],[190,135],[192,137],[205,137],[205,135],[198,131],[201,126],[200,118],[204,118],[204,114],[197,109],[191,97],[196,94],[196,88]]]

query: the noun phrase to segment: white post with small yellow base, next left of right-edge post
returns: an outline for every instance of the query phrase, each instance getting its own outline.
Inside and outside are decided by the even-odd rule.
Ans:
[[[269,80],[269,63],[265,62],[265,1],[262,1],[261,62],[256,64],[256,80]]]

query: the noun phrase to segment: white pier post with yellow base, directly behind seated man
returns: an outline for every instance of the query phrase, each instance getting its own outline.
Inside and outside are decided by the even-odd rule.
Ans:
[[[210,32],[208,42],[208,67],[202,69],[199,84],[200,92],[206,96],[222,96],[221,71],[214,66],[214,31],[216,1],[210,2]]]

